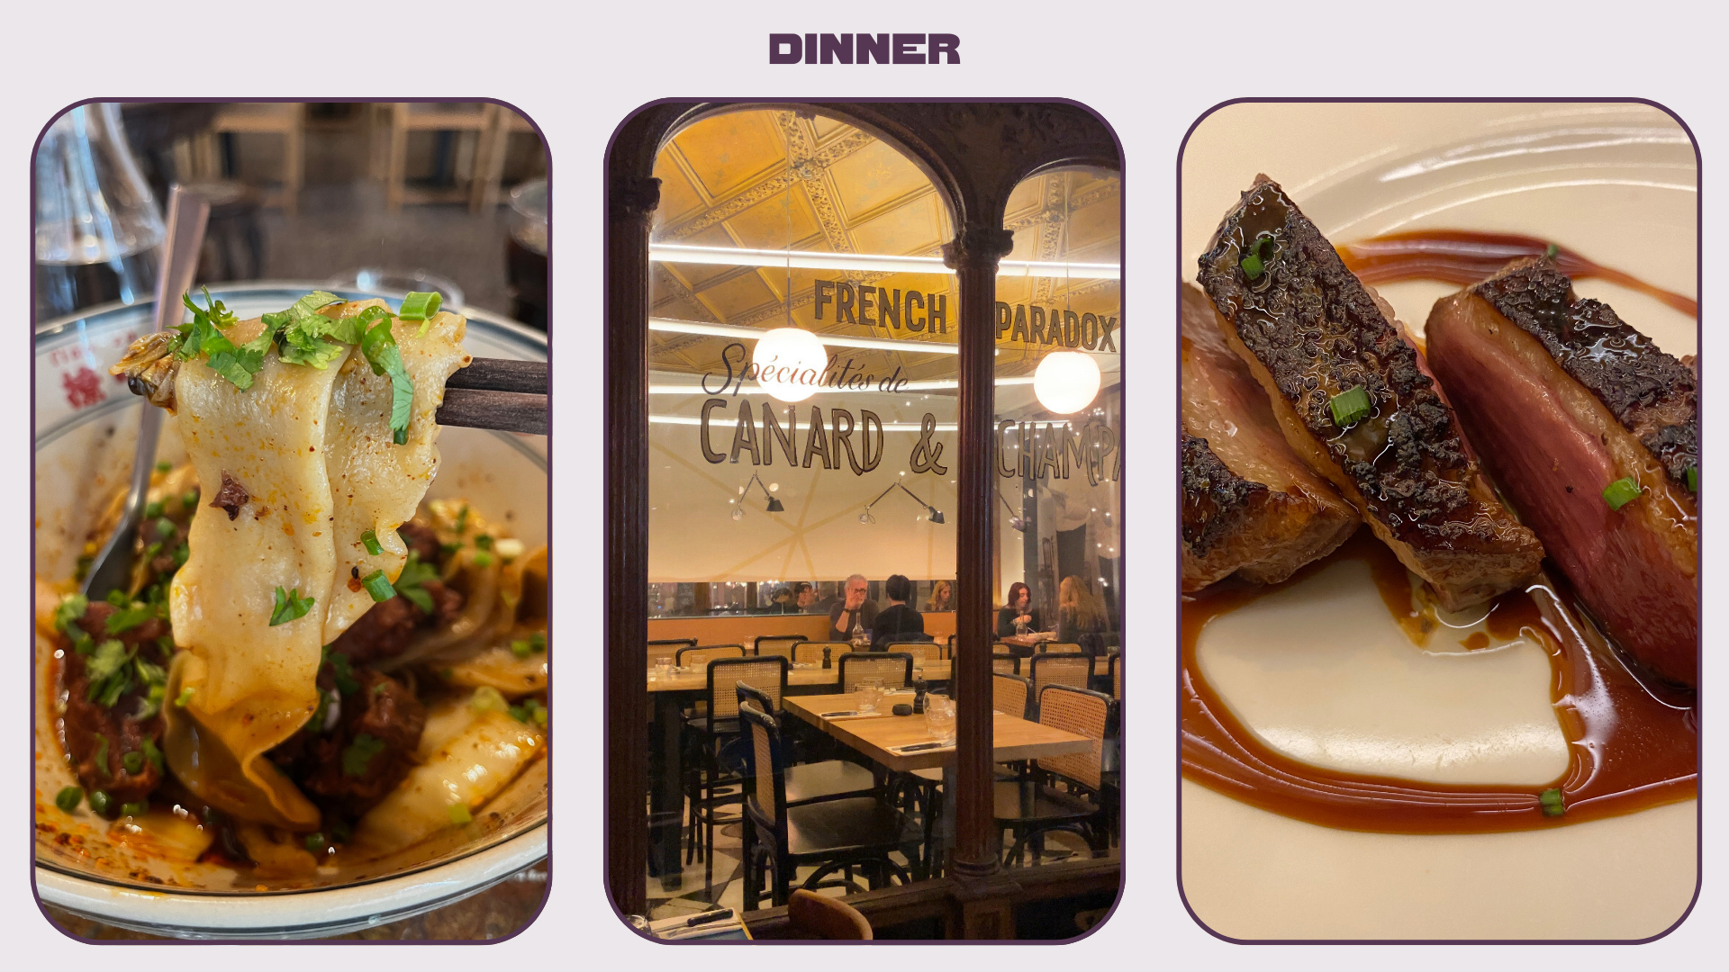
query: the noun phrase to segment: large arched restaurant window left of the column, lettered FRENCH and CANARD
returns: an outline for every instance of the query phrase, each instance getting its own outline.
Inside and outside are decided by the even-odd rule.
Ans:
[[[885,688],[946,685],[960,294],[944,195],[842,119],[714,114],[662,145],[654,176],[645,759],[647,917],[660,920],[749,905],[740,818],[759,751],[731,714],[737,678],[711,692],[712,659],[783,655],[787,699],[821,697],[844,688],[840,655],[875,645],[915,655],[911,678],[871,675]],[[890,799],[866,758],[778,716],[787,763],[833,763],[826,777],[856,799]],[[908,820],[932,789],[897,801]],[[934,841],[830,877],[851,880],[844,892],[918,880]],[[773,877],[761,884],[768,908]]]

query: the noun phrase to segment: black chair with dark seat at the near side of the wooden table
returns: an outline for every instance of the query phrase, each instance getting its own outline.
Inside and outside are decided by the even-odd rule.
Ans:
[[[749,785],[745,790],[743,906],[754,911],[762,899],[764,877],[773,905],[785,905],[801,866],[816,866],[801,887],[859,889],[837,877],[858,868],[870,887],[887,887],[890,879],[913,879],[890,858],[899,851],[918,860],[920,828],[880,796],[830,799],[811,804],[787,803],[787,761],[780,719],[752,700],[738,706],[750,735],[745,747]]]

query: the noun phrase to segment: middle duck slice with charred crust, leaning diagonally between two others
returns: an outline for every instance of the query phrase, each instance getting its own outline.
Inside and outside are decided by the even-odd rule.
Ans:
[[[1200,284],[1286,441],[1442,607],[1482,604],[1535,574],[1542,545],[1482,477],[1416,349],[1278,183],[1257,176],[1226,214]],[[1340,427],[1330,403],[1357,387],[1371,412]]]

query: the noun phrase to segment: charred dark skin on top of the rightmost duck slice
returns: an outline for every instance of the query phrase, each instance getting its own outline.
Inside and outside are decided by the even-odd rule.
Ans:
[[[1700,462],[1700,389],[1688,365],[1608,304],[1579,299],[1573,282],[1541,256],[1506,266],[1471,292],[1535,337],[1663,464],[1670,483],[1688,484],[1688,467]]]

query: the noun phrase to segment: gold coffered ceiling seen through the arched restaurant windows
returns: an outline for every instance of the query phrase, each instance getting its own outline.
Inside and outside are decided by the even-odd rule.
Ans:
[[[953,237],[942,197],[901,152],[858,128],[790,111],[740,111],[707,118],[679,131],[655,161],[660,204],[654,240],[707,247],[795,249],[892,256],[941,256]],[[1005,225],[1015,232],[1010,259],[1117,263],[1120,183],[1113,175],[1062,171],[1022,183],[1010,197]],[[1067,218],[1067,247],[1063,240]],[[787,318],[788,272],[775,266],[654,263],[654,317],[702,323],[775,327]],[[833,310],[814,320],[813,280],[849,280],[903,291],[947,294],[949,332],[889,332],[837,323]],[[998,299],[1119,315],[1117,280],[1003,277]],[[896,337],[901,365],[913,377],[953,375],[953,355],[920,353],[916,344],[953,342],[960,306],[946,273],[851,270],[790,272],[792,318],[818,332]],[[1119,318],[1120,320],[1120,318]],[[657,370],[704,372],[726,339],[650,332]],[[1030,370],[1036,353],[1005,344],[999,374]]]

